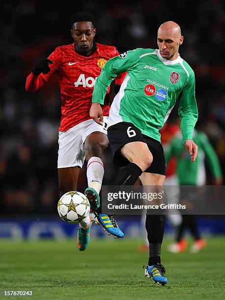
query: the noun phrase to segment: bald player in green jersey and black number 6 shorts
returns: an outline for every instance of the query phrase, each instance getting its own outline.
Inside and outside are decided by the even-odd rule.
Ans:
[[[192,137],[198,115],[195,75],[179,56],[182,43],[180,26],[166,22],[158,29],[159,50],[136,49],[120,54],[105,64],[96,80],[90,116],[102,124],[100,104],[104,103],[107,88],[114,77],[128,72],[112,102],[108,124],[114,162],[125,166],[114,185],[133,185],[138,177],[143,186],[164,184],[166,161],[159,128],[178,98],[183,144],[192,162],[197,157],[197,145]],[[149,242],[145,275],[164,285],[168,282],[161,265],[165,216],[147,214],[145,227]]]

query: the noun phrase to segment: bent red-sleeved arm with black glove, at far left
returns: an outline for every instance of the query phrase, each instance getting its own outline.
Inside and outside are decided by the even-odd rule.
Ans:
[[[36,92],[49,77],[58,70],[59,50],[56,50],[46,59],[40,60],[26,80],[26,91]]]

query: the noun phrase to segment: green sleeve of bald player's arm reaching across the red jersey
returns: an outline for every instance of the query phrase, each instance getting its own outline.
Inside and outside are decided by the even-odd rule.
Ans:
[[[139,56],[136,50],[124,52],[108,60],[95,82],[92,103],[104,103],[107,88],[118,75],[129,72],[135,66]]]

